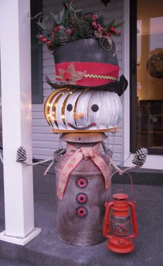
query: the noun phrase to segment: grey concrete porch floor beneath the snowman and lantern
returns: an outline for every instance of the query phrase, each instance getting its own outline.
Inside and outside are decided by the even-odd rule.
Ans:
[[[24,247],[0,241],[0,266],[163,266],[163,188],[159,184],[162,183],[163,172],[160,172],[157,185],[153,185],[157,179],[155,172],[151,184],[148,184],[148,173],[144,175],[144,184],[134,185],[139,227],[139,235],[133,240],[135,250],[131,254],[114,254],[106,249],[106,241],[95,246],[74,247],[58,240],[55,231],[54,169],[46,177],[44,170],[43,166],[34,168],[35,226],[41,227],[41,234]],[[139,175],[137,178],[140,178]],[[2,231],[5,228],[2,175],[0,186]],[[5,261],[4,258],[12,260]]]

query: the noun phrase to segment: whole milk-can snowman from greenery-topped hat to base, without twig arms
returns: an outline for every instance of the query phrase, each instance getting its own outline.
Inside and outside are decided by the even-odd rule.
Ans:
[[[81,17],[71,3],[64,6],[69,28],[63,17],[58,22],[53,16],[55,28],[49,35],[47,30],[39,35],[50,50],[55,49],[57,80],[47,81],[55,91],[47,97],[44,113],[53,132],[63,133],[61,140],[67,142],[55,167],[57,236],[70,245],[95,245],[104,241],[104,200],[112,162],[111,155],[100,152],[100,145],[106,139],[104,132],[118,130],[119,96],[128,82],[124,76],[119,79],[111,35],[120,32],[114,21],[104,26],[99,15]]]

